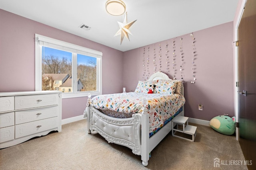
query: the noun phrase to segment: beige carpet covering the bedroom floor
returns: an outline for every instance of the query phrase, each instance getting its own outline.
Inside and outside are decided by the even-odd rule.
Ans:
[[[126,147],[108,143],[98,133],[87,134],[86,119],[52,133],[0,150],[1,170],[246,170],[244,165],[224,165],[244,160],[235,136],[222,135],[196,125],[195,142],[171,134],[151,152],[148,166]],[[214,167],[220,158],[220,168]]]

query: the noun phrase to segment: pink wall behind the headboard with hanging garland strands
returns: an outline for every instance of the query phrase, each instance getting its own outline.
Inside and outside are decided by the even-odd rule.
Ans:
[[[193,80],[192,56],[193,46],[190,34],[182,35],[175,39],[176,47],[176,78],[181,78],[179,66],[181,64],[180,38],[182,37],[182,47],[184,51],[184,91],[185,91],[185,115],[188,117],[210,120],[216,115],[229,114],[234,116],[234,66],[233,66],[233,22],[210,27],[208,29],[194,32],[196,47],[196,83]],[[169,51],[169,66],[166,66],[166,44]],[[156,65],[153,63],[154,45],[156,47]],[[159,53],[159,45],[161,52]],[[135,90],[138,80],[144,80],[143,52],[145,48],[145,60],[148,58],[149,47],[149,69],[150,74],[160,70],[160,57],[162,55],[161,71],[173,78],[174,69],[172,68],[172,47],[173,39],[161,41],[138,49],[124,52],[124,79],[123,86],[127,91]],[[132,61],[132,62],[131,62]],[[147,61],[146,61],[147,63]],[[147,65],[147,64],[146,64]],[[169,69],[167,69],[169,68]],[[198,110],[198,104],[202,104],[203,111]]]

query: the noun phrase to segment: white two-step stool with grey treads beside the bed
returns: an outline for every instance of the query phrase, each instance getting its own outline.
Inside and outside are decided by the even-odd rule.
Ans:
[[[177,124],[176,129],[174,129],[174,127],[175,127],[174,124]],[[182,129],[179,129],[178,125],[182,125]],[[188,141],[194,142],[194,139],[196,137],[196,128],[197,128],[196,126],[188,125],[188,117],[176,116],[172,119],[172,136],[174,136],[174,137],[178,137],[178,138],[181,138],[181,139],[186,139]],[[175,135],[175,133],[177,131],[181,132],[181,133],[186,133],[188,135],[192,135],[192,140],[188,139],[188,138],[185,138],[185,137]]]

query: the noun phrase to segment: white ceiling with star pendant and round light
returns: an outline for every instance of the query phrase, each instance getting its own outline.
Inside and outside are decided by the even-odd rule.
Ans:
[[[0,0],[0,9],[120,51],[128,51],[234,20],[238,0],[123,0],[131,27],[120,45],[117,21],[107,0]],[[91,27],[86,31],[79,26]]]

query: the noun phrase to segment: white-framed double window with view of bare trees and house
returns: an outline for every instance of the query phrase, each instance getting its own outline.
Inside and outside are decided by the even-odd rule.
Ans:
[[[35,35],[36,90],[59,90],[62,98],[102,94],[102,53]]]

